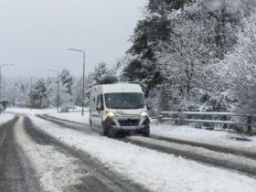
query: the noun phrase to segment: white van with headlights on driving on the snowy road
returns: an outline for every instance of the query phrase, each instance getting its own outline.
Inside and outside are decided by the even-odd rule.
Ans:
[[[149,136],[149,116],[144,93],[138,84],[101,84],[91,88],[91,128],[100,129],[102,135],[133,132]]]

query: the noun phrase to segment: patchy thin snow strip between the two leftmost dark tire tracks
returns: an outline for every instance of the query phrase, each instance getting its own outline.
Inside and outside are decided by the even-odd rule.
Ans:
[[[60,153],[50,145],[40,145],[31,141],[25,133],[22,121],[16,123],[16,141],[27,154],[46,191],[63,191],[65,187],[80,184],[80,165],[77,160]]]

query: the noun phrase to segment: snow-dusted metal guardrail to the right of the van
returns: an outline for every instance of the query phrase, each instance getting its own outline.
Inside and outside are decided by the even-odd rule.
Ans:
[[[231,117],[243,117],[246,119],[246,123],[236,123],[230,121]],[[221,120],[219,120],[219,117]],[[182,124],[187,123],[209,123],[223,124],[224,128],[230,125],[246,126],[248,133],[251,133],[251,127],[256,127],[252,121],[256,122],[256,115],[254,114],[240,114],[232,112],[160,112],[160,115],[155,117],[161,121],[174,121],[175,123]],[[228,120],[229,119],[229,120]]]

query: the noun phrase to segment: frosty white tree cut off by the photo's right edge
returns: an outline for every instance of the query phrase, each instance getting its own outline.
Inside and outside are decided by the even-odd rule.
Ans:
[[[256,9],[249,19],[244,19],[238,44],[222,62],[231,93],[239,101],[240,112],[256,112]]]

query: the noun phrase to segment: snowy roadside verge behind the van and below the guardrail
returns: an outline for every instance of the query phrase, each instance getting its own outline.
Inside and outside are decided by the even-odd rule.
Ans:
[[[79,112],[49,113],[48,115],[65,121],[69,120],[72,122],[89,124],[88,112],[85,112],[83,117],[81,117]],[[195,129],[191,125],[177,126],[175,124],[152,123],[151,133],[156,136],[167,137],[191,143],[194,142],[226,147],[238,151],[242,150],[255,153],[256,148],[256,136],[247,136],[251,142],[244,142],[233,139],[232,136],[234,136],[235,133]]]

